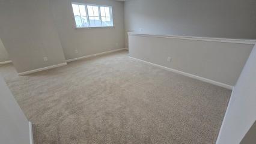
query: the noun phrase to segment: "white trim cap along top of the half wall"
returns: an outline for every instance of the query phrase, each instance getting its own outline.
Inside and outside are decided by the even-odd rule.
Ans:
[[[246,39],[231,39],[231,38],[210,38],[210,37],[187,37],[187,36],[177,36],[177,35],[155,35],[155,34],[140,34],[135,32],[128,32],[128,35],[141,36],[141,37],[158,37],[158,38],[175,38],[183,40],[199,40],[199,41],[214,41],[222,43],[241,43],[241,44],[255,44],[256,40],[246,40]]]

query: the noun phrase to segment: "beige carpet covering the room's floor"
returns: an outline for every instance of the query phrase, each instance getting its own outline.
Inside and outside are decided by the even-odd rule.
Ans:
[[[215,143],[231,91],[134,61],[127,51],[29,76],[0,72],[35,144]]]

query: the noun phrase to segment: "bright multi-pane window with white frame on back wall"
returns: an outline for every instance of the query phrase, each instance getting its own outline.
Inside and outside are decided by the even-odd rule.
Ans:
[[[72,3],[76,28],[113,26],[112,8],[105,5]]]

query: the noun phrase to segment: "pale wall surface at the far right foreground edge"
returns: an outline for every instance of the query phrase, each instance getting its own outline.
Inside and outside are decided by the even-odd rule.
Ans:
[[[217,144],[241,142],[256,120],[256,46],[231,95]]]

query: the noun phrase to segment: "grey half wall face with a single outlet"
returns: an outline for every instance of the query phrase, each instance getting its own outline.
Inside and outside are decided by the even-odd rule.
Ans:
[[[253,46],[129,35],[129,56],[230,86],[236,84]]]

